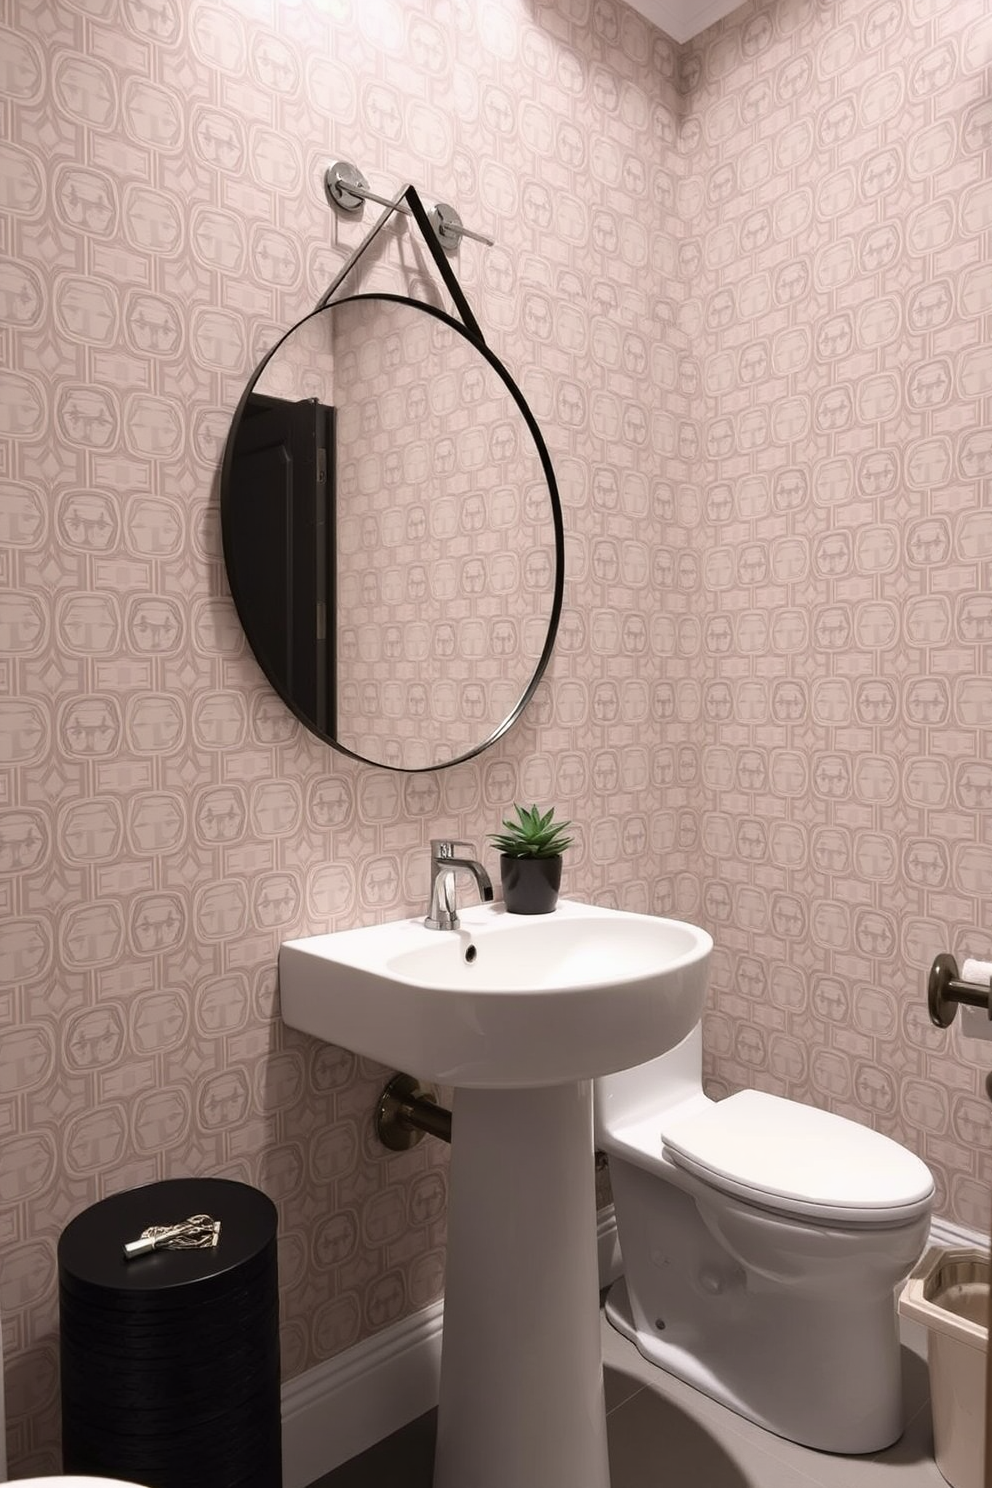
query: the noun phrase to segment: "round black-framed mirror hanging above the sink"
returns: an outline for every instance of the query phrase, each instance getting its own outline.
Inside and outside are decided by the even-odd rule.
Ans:
[[[269,351],[222,476],[248,644],[320,738],[390,769],[486,748],[531,696],[562,600],[558,487],[488,347],[357,295]]]

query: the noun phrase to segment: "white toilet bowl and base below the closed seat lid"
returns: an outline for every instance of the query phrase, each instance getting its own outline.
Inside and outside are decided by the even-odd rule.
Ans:
[[[885,1228],[811,1225],[721,1193],[663,1153],[642,1167],[617,1147],[607,1150],[629,1303],[617,1292],[607,1315],[644,1359],[800,1446],[854,1457],[898,1440],[895,1289],[924,1251],[928,1211]]]

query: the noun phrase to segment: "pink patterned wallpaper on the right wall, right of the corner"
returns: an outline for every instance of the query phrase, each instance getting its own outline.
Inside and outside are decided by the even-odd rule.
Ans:
[[[736,12],[680,55],[678,186],[709,1067],[982,1231],[992,1045],[924,990],[992,958],[991,62],[974,0]]]

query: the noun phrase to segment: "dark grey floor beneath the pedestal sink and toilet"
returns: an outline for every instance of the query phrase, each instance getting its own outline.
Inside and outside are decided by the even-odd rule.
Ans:
[[[947,1488],[933,1458],[927,1335],[901,1321],[906,1430],[876,1457],[784,1442],[648,1364],[602,1321],[613,1488]],[[431,1488],[434,1412],[312,1488]],[[507,1484],[507,1488],[518,1485]]]

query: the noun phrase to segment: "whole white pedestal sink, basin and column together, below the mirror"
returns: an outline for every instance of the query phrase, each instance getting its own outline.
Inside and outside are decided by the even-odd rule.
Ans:
[[[711,949],[570,900],[283,946],[290,1027],[455,1086],[434,1488],[608,1488],[592,1079],[689,1033]]]

